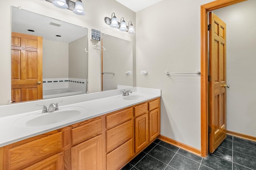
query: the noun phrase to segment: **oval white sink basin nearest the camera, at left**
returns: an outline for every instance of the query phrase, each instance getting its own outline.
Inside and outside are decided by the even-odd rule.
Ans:
[[[25,127],[38,127],[52,125],[62,121],[74,119],[86,113],[84,107],[62,107],[49,113],[36,112],[17,119],[14,124]]]

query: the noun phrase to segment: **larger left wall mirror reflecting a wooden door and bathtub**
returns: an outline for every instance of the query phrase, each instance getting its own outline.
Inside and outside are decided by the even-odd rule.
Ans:
[[[87,28],[12,6],[12,101],[86,93],[87,48]]]

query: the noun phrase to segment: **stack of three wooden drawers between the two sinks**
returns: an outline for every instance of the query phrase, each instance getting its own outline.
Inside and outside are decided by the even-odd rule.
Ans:
[[[118,170],[133,156],[132,107],[106,116],[106,169]]]

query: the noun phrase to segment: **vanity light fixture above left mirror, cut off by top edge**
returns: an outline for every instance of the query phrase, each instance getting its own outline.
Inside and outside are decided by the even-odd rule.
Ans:
[[[84,4],[82,0],[77,0],[76,3],[71,0],[44,0],[54,4],[58,8],[68,9],[73,11],[75,14],[84,15]]]

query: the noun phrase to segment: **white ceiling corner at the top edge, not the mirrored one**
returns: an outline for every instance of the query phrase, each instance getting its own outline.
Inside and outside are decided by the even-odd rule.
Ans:
[[[116,0],[116,1],[126,6],[130,10],[133,10],[134,12],[138,12],[162,0]]]

